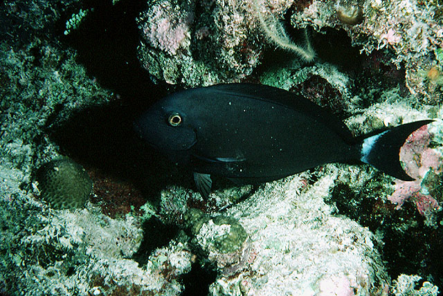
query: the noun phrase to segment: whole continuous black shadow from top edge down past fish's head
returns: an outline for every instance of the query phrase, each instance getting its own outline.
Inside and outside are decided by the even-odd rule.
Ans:
[[[183,179],[179,169],[139,140],[132,127],[141,112],[167,93],[165,85],[152,83],[137,59],[136,17],[146,9],[145,3],[120,0],[112,5],[112,1],[87,0],[81,7],[73,3],[59,27],[64,28],[71,13],[80,8],[89,13],[79,28],[66,36],[60,30],[59,35],[66,46],[76,50],[77,62],[87,74],[116,93],[118,100],[70,114],[64,122],[55,110],[46,123],[47,132],[63,154],[84,167],[132,182],[146,196],[165,183],[179,183]]]

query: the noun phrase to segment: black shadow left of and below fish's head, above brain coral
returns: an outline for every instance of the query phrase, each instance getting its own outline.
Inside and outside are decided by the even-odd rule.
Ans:
[[[139,139],[132,128],[134,111],[118,102],[71,114],[51,127],[50,137],[65,154],[84,167],[130,181],[150,197],[168,184],[192,186],[186,170]]]

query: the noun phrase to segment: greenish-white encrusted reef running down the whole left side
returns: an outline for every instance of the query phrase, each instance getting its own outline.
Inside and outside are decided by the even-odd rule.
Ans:
[[[143,238],[140,221],[131,215],[111,219],[91,203],[84,210],[53,210],[32,186],[35,169],[61,158],[48,126],[116,99],[75,62],[72,49],[53,38],[69,3],[0,4],[0,81],[7,86],[0,90],[0,294],[179,295],[183,286],[177,279],[191,263],[186,241],[159,249],[141,268],[129,259]],[[9,16],[11,23],[5,21]],[[18,37],[3,30],[17,31]],[[78,165],[71,168],[87,181],[89,195],[91,181]]]

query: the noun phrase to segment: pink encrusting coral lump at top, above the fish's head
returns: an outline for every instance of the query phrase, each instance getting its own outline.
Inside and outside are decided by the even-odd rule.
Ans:
[[[154,48],[175,55],[179,48],[190,44],[190,26],[194,21],[194,11],[190,3],[181,5],[172,1],[159,1],[141,17],[143,37]]]

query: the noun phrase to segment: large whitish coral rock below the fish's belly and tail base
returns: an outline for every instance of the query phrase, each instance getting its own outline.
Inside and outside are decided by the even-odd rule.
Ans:
[[[323,201],[336,174],[327,170],[307,188],[307,174],[268,183],[228,210],[251,234],[251,255],[242,272],[219,276],[210,295],[381,294],[388,277],[377,239],[330,215],[332,207]]]

